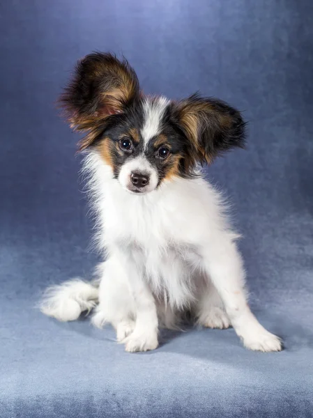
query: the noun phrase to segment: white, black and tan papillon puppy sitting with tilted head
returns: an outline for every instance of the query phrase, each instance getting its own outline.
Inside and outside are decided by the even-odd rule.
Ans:
[[[234,327],[251,350],[281,350],[250,311],[238,234],[201,173],[244,146],[239,111],[197,94],[144,95],[127,61],[100,52],[77,63],[61,103],[86,133],[83,172],[105,261],[95,281],[49,288],[42,311],[66,321],[94,308],[93,324],[111,323],[129,352],[157,348],[159,328],[186,312],[204,327]]]

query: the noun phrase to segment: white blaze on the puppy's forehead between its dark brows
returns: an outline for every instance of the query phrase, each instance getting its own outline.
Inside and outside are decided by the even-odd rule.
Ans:
[[[148,141],[158,135],[162,129],[162,117],[169,100],[164,96],[160,98],[146,98],[144,101],[144,126],[142,127],[142,138],[146,145]]]

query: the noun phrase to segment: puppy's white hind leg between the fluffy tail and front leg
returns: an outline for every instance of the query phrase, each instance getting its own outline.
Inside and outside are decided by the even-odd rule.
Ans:
[[[130,293],[128,278],[121,259],[111,256],[99,266],[99,304],[92,323],[101,328],[111,323],[116,329],[116,339],[121,342],[135,327],[135,302]]]

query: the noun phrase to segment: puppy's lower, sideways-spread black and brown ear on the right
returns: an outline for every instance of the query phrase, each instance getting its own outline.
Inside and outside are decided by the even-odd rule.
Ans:
[[[192,95],[174,102],[172,114],[200,162],[209,163],[224,151],[245,146],[245,122],[240,112],[221,100]]]

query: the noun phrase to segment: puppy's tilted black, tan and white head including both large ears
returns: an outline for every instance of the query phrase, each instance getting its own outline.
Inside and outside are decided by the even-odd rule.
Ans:
[[[96,148],[131,193],[191,178],[197,163],[244,145],[245,123],[236,109],[199,95],[180,101],[144,96],[135,71],[111,54],[79,61],[61,103],[70,125],[86,132],[80,149]]]

